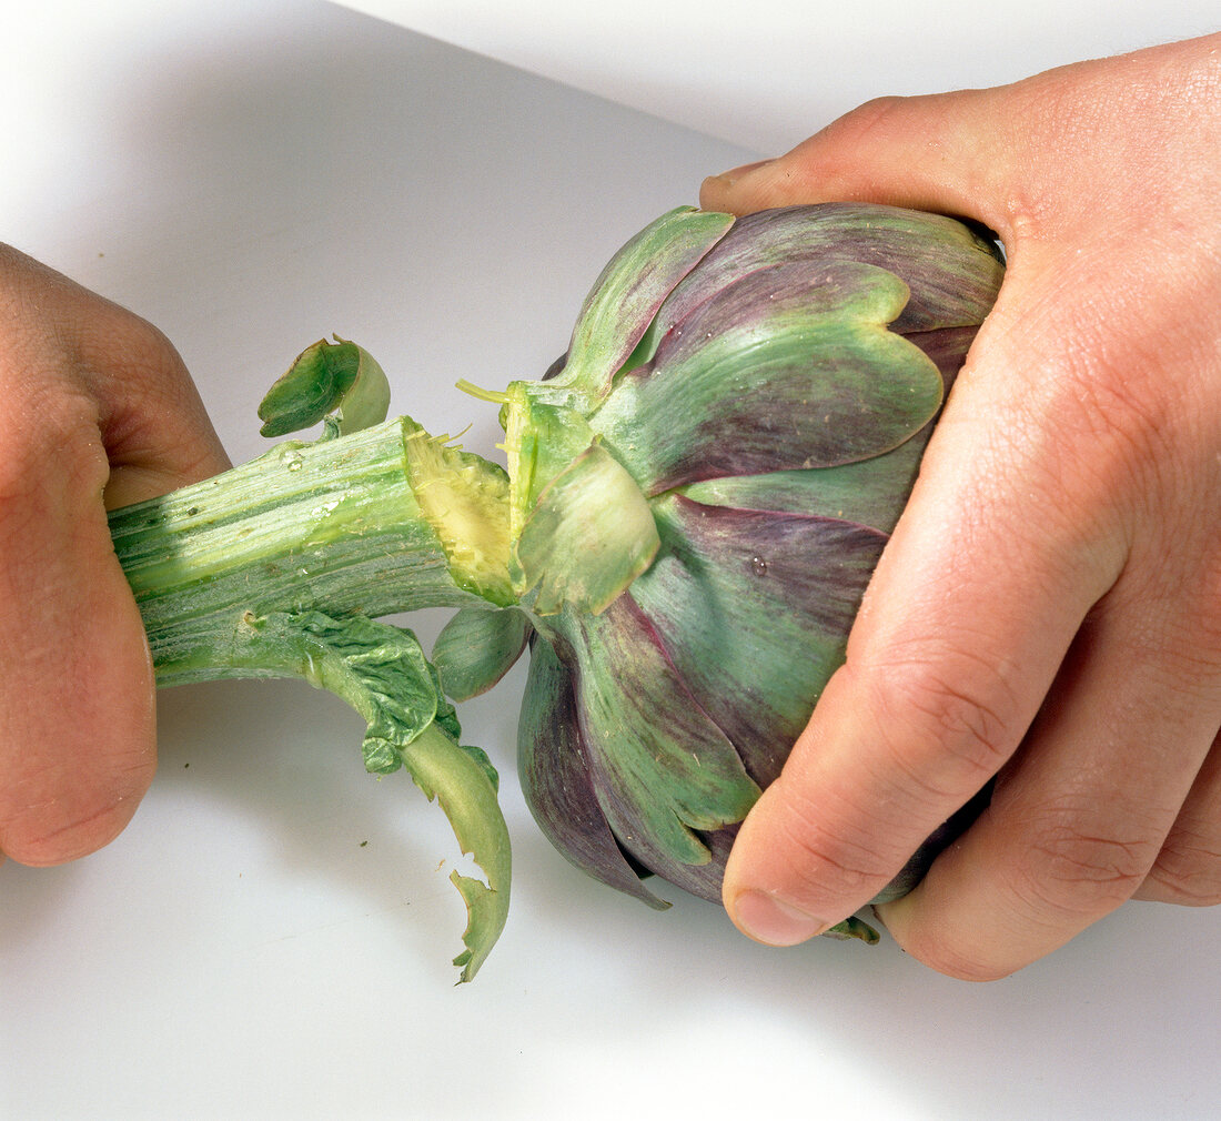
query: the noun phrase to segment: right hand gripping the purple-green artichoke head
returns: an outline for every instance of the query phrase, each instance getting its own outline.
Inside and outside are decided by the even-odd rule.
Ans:
[[[1221,35],[871,103],[708,180],[974,217],[1007,275],[852,630],[725,874],[788,945],[998,775],[897,943],[1006,976],[1125,900],[1221,902]]]

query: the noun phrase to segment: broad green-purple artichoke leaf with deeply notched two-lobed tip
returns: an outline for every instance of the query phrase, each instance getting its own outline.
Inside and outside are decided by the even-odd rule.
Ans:
[[[590,418],[647,495],[882,454],[941,404],[934,363],[886,328],[907,286],[873,265],[778,265],[706,300]]]

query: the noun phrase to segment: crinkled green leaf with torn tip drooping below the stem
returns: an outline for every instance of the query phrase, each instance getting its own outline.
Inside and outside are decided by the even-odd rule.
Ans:
[[[504,928],[509,907],[509,834],[497,801],[496,772],[479,749],[457,741],[454,711],[410,631],[361,615],[321,612],[247,618],[233,667],[267,677],[299,677],[347,701],[366,720],[365,767],[403,768],[449,818],[463,854],[486,879],[451,880],[466,904],[465,949],[454,959],[470,981]]]

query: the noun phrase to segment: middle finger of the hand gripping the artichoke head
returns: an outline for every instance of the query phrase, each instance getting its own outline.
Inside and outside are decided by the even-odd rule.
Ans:
[[[1167,563],[1167,582],[1192,586]],[[988,811],[911,895],[879,907],[926,965],[1007,976],[1127,901],[1158,867],[1221,720],[1221,648],[1200,625],[1210,603],[1132,584],[1121,580],[1083,626]],[[1184,825],[1179,890],[1203,855],[1182,851],[1187,838],[1217,829]]]

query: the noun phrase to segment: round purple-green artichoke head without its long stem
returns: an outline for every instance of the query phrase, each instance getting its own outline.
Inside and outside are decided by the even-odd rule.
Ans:
[[[719,899],[1001,276],[935,215],[675,210],[503,394],[516,603],[459,612],[433,657],[463,698],[530,646],[521,782],[579,867],[653,905],[646,873]]]

